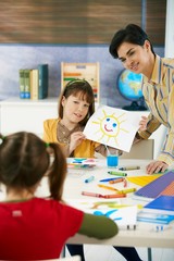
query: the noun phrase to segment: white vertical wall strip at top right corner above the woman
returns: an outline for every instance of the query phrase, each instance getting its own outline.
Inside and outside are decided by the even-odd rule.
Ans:
[[[166,1],[165,57],[174,58],[174,0]]]

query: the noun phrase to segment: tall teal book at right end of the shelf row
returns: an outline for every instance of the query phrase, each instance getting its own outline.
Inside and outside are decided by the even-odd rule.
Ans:
[[[48,64],[38,65],[39,85],[38,85],[38,99],[48,97]]]

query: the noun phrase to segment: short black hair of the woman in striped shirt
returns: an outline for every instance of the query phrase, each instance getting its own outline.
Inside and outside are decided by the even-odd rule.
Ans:
[[[115,33],[111,40],[109,51],[113,58],[117,59],[117,49],[123,42],[144,46],[145,40],[150,42],[151,51],[154,54],[153,47],[148,38],[148,35],[138,25],[128,24],[124,29],[120,29]]]

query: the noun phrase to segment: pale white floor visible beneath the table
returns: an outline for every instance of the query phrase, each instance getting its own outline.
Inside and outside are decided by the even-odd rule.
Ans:
[[[140,258],[148,261],[147,248],[136,248]],[[66,250],[66,256],[70,256]],[[125,259],[110,246],[85,245],[86,261],[125,261]],[[174,249],[152,248],[152,261],[173,261]]]

